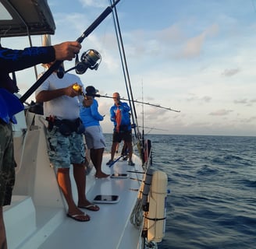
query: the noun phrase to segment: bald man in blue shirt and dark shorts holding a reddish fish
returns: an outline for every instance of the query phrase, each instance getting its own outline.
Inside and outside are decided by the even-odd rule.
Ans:
[[[122,140],[126,143],[128,149],[128,165],[134,166],[133,156],[133,137],[130,124],[130,107],[127,103],[120,101],[119,93],[113,93],[114,105],[110,108],[110,120],[114,123],[114,133],[112,137],[111,159],[107,165],[114,161],[116,146]]]

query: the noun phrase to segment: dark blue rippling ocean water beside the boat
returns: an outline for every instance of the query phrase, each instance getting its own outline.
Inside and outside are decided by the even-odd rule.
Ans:
[[[171,191],[158,249],[256,248],[256,137],[148,139],[153,165],[168,175]]]

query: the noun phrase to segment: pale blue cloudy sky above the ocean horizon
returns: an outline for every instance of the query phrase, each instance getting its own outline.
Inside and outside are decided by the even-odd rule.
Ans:
[[[58,44],[80,37],[109,1],[48,4],[56,25],[52,44]],[[145,134],[256,135],[256,0],[120,0],[116,9],[134,100],[180,110],[137,103]],[[101,64],[80,79],[103,96],[127,98],[115,32],[109,15],[83,41],[80,54],[94,49]],[[27,38],[18,39],[2,39],[2,46],[29,46]],[[32,41],[41,45],[41,37]],[[64,65],[71,68],[74,61]],[[17,78],[21,94],[35,81],[33,70]],[[97,100],[103,132],[111,133],[113,101]]]

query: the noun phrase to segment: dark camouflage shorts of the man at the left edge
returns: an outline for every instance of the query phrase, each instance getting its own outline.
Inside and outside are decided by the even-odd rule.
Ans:
[[[10,205],[15,182],[12,125],[0,120],[0,206]]]

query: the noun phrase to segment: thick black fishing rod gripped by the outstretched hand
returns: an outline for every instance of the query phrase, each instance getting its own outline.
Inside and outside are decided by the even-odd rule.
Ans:
[[[80,44],[83,42],[83,40],[92,32],[96,29],[96,27],[112,12],[112,9],[117,5],[117,3],[120,0],[116,0],[113,2],[112,5],[108,6],[100,16],[98,16],[97,19],[94,20],[93,23],[91,23],[91,26],[87,28],[87,30],[82,33],[82,35],[76,39]],[[63,61],[55,61],[55,63],[48,68],[46,72],[41,76],[41,78],[37,79],[37,82],[34,83],[33,86],[30,87],[30,89],[27,90],[26,93],[23,94],[23,96],[20,97],[20,102],[24,103],[31,95],[34,93],[34,91],[41,86],[41,84],[54,72],[56,69],[59,68],[60,65],[62,65]]]

